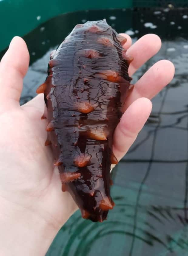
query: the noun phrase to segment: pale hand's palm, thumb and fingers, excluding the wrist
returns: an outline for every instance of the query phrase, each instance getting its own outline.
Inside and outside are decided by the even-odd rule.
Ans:
[[[151,41],[155,44],[152,45]],[[125,48],[129,48],[129,55],[134,57],[129,67],[129,75],[132,75],[147,59],[156,54],[160,48],[160,40],[155,35],[146,35],[133,46],[129,47],[130,44],[128,37]],[[137,52],[143,52],[142,47],[150,47],[150,50],[145,53],[144,58],[140,56],[137,59]],[[15,62],[12,61],[13,53],[17,55]],[[60,227],[77,206],[69,193],[62,193],[58,170],[55,168],[53,171],[51,149],[44,146],[47,124],[40,119],[44,111],[43,96],[39,95],[24,106],[19,106],[22,79],[28,63],[26,45],[21,38],[16,37],[0,63],[0,197]],[[9,71],[11,78],[7,79],[5,70]],[[150,114],[151,103],[146,98],[155,96],[170,82],[173,74],[172,63],[159,61],[136,83],[126,100],[126,111],[114,133],[113,151],[118,160],[132,145]],[[141,98],[143,96],[146,98]]]

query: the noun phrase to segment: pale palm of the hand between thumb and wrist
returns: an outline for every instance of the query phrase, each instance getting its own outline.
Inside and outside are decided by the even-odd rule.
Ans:
[[[51,149],[44,146],[46,122],[41,116],[35,104],[0,115],[0,196],[60,225],[77,208],[70,195],[61,192],[58,171],[53,172]]]

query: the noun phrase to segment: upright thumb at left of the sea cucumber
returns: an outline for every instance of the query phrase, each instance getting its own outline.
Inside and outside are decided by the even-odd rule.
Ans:
[[[0,62],[0,112],[19,106],[29,52],[21,37],[14,37]]]

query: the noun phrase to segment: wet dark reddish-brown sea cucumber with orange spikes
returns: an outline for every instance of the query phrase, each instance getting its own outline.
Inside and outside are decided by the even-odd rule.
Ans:
[[[44,93],[51,145],[62,191],[69,191],[82,217],[102,222],[114,202],[110,196],[113,132],[131,78],[126,38],[106,23],[78,24],[53,51]]]

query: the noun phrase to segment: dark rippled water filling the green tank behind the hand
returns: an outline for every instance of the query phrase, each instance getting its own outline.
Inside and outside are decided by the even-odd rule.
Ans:
[[[58,16],[24,37],[31,55],[21,104],[44,82],[49,53],[77,23],[106,18],[133,42],[146,33],[162,39],[159,53],[133,76],[169,59],[173,81],[153,100],[136,142],[113,171],[115,208],[104,223],[76,212],[59,231],[46,256],[188,255],[188,10],[122,9]],[[0,58],[3,53],[0,53]]]

